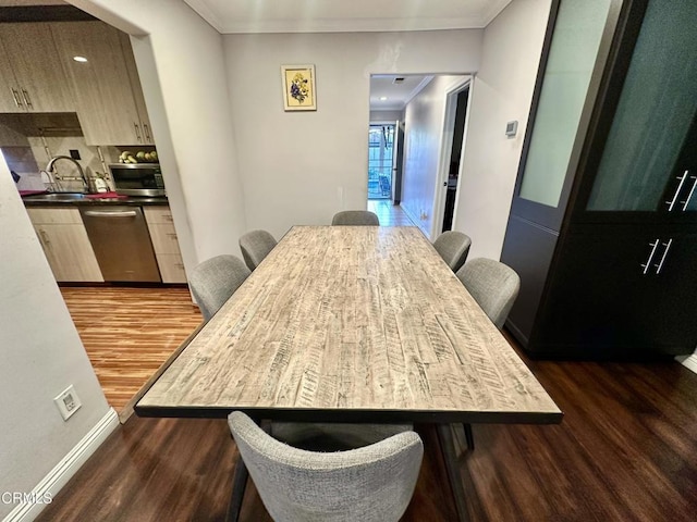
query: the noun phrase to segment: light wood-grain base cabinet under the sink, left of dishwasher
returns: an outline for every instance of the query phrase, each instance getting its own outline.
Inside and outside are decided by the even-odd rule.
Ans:
[[[58,282],[103,282],[77,208],[27,209]]]

